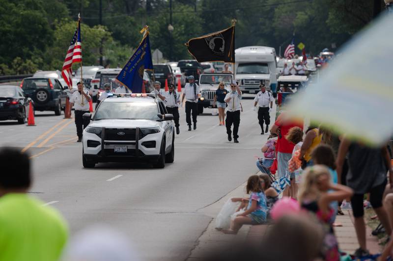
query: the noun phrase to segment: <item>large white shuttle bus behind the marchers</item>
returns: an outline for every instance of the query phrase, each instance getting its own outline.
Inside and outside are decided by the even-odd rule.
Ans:
[[[235,50],[235,79],[242,92],[257,93],[260,82],[277,93],[276,51],[272,47],[247,46]]]

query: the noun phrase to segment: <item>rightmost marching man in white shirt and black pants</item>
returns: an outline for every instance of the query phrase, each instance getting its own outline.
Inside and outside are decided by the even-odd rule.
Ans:
[[[258,105],[258,121],[261,126],[261,134],[265,134],[265,132],[267,133],[269,131],[270,112],[272,111],[274,98],[270,92],[266,91],[265,84],[261,83],[259,88],[261,91],[255,96],[254,109]],[[263,122],[266,124],[265,131],[263,130]]]

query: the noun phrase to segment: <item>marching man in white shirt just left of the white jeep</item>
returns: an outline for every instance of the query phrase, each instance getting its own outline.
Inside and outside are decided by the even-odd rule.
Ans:
[[[188,77],[188,83],[184,86],[184,92],[181,102],[186,98],[186,122],[188,130],[191,130],[191,113],[193,115],[194,130],[197,130],[197,115],[198,115],[198,98],[199,86],[194,82],[194,76]],[[191,112],[192,111],[192,112]]]

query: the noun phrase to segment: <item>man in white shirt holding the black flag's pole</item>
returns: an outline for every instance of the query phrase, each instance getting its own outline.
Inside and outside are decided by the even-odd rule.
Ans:
[[[240,90],[239,86],[236,82],[232,82],[230,84],[230,92],[225,96],[225,103],[228,104],[227,111],[226,111],[226,133],[228,134],[228,140],[231,141],[232,137],[232,123],[233,123],[233,142],[239,143],[237,140],[239,138],[238,130],[240,125],[240,109],[242,108],[240,104],[240,100],[242,99],[242,91]]]

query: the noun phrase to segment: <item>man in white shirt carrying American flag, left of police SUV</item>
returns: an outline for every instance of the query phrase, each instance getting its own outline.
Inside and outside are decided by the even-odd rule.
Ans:
[[[82,141],[82,132],[84,128],[89,124],[84,122],[83,114],[89,111],[90,95],[88,90],[84,90],[83,82],[78,82],[78,91],[74,92],[70,99],[70,111],[71,115],[72,106],[75,105],[75,125],[77,126],[78,142]]]

